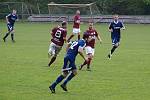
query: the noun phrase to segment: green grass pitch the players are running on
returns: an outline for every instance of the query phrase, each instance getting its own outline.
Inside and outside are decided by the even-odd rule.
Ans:
[[[121,46],[111,60],[106,58],[111,49],[107,24],[97,24],[103,44],[97,43],[92,71],[78,71],[68,84],[69,92],[49,85],[61,73],[63,49],[51,68],[48,63],[48,23],[16,23],[16,43],[10,37],[0,40],[0,100],[150,100],[150,25],[126,25]],[[87,25],[81,25],[84,31]],[[7,31],[0,23],[1,36]],[[72,25],[68,26],[68,34]],[[82,63],[80,56],[76,64]]]

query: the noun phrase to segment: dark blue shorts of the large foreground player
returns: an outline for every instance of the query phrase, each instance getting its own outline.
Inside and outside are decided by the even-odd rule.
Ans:
[[[77,69],[75,65],[75,59],[72,59],[69,56],[66,56],[64,58],[64,65],[63,65],[62,71],[70,71],[74,69]]]

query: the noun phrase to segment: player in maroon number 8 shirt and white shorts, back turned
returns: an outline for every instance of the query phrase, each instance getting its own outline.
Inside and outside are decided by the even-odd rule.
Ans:
[[[48,66],[50,67],[51,64],[56,60],[58,53],[60,52],[64,42],[66,42],[66,35],[67,35],[67,23],[62,22],[61,27],[55,27],[52,29],[51,35],[51,44],[49,46],[48,55],[51,58]]]

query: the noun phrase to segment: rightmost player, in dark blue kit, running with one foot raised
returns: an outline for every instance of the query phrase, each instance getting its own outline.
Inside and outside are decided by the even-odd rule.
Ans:
[[[121,21],[119,21],[119,16],[113,16],[114,21],[109,25],[109,31],[111,32],[111,40],[112,40],[112,49],[108,54],[108,58],[111,59],[113,52],[119,47],[120,38],[121,38],[121,29],[125,29],[125,26]]]

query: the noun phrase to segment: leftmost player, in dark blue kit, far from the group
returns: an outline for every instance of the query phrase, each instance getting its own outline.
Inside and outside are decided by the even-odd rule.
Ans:
[[[14,24],[15,21],[17,20],[17,15],[16,15],[17,11],[13,10],[11,14],[8,14],[6,16],[6,22],[7,22],[7,27],[8,27],[8,32],[6,33],[6,35],[4,36],[3,40],[4,42],[6,42],[6,38],[8,37],[8,35],[11,33],[11,39],[12,42],[15,42],[14,40]]]

